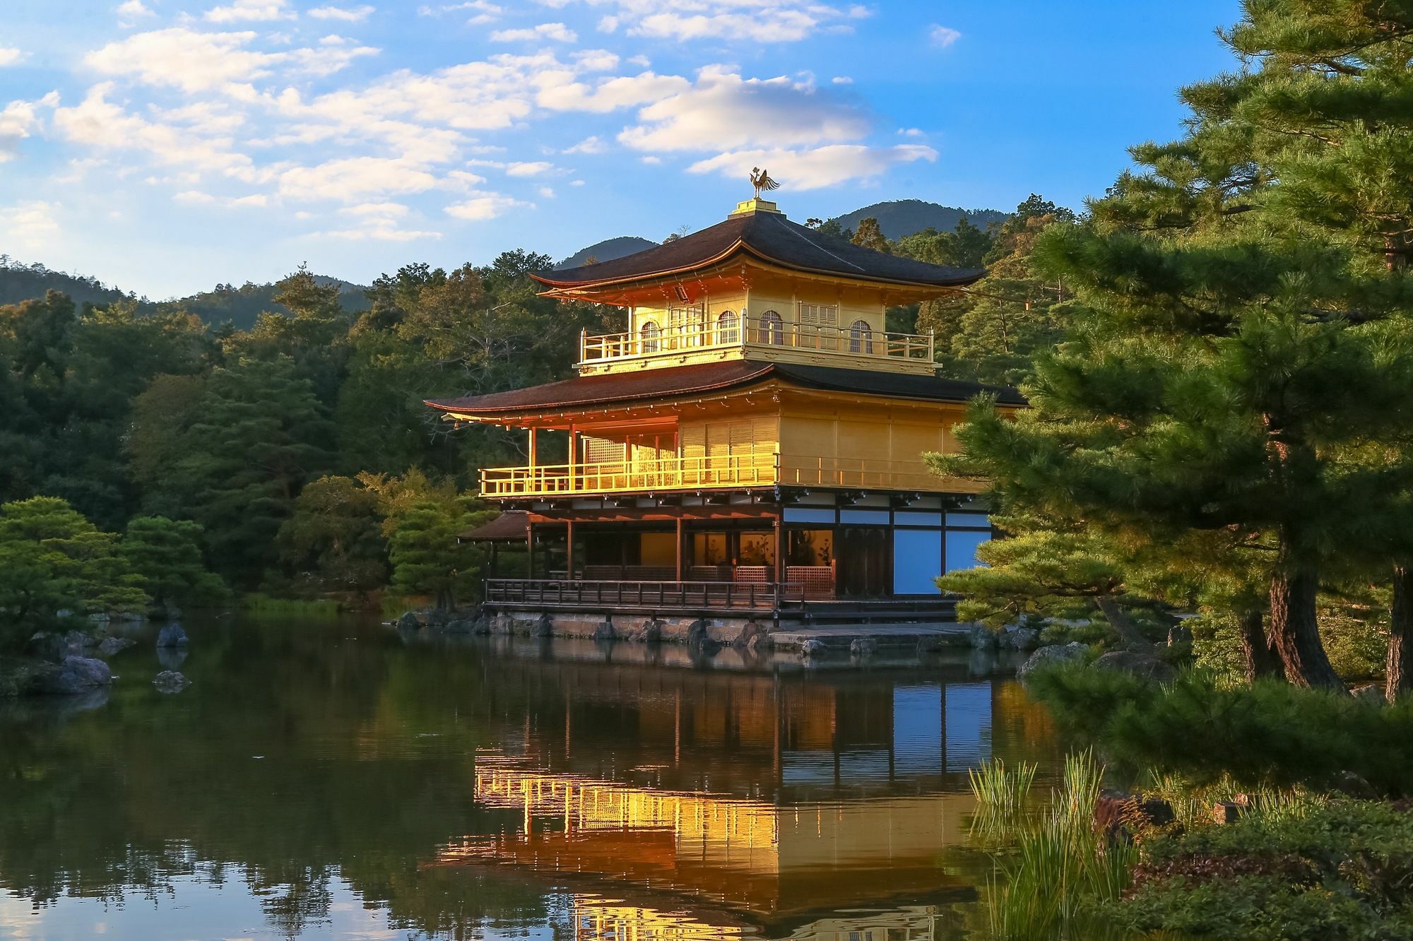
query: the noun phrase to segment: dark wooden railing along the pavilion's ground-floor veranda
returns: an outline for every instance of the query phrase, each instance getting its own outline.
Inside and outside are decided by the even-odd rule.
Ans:
[[[780,610],[800,606],[805,586],[760,582],[589,582],[569,579],[490,578],[486,600],[507,605],[612,605],[615,608],[687,610]]]

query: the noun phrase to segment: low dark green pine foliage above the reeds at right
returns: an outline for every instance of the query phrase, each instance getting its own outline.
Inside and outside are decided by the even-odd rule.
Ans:
[[[1330,787],[1352,773],[1383,794],[1413,787],[1413,704],[1379,705],[1263,680],[1222,685],[1184,673],[1169,685],[1115,670],[1053,668],[1030,690],[1057,723],[1123,771],[1195,784]]]

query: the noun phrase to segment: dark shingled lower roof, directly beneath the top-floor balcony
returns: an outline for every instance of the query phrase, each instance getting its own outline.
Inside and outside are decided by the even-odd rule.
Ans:
[[[1026,404],[1020,393],[1009,386],[982,386],[981,383],[969,383],[959,379],[909,376],[873,369],[791,366],[787,363],[757,363],[740,359],[725,363],[644,369],[634,373],[578,376],[558,383],[531,386],[530,389],[428,401],[427,404],[441,411],[489,415],[691,396],[726,389],[743,389],[769,379],[780,379],[791,386],[804,389],[852,391],[893,398],[921,398],[927,401],[961,403],[971,400],[979,393],[989,391],[1002,404]]]

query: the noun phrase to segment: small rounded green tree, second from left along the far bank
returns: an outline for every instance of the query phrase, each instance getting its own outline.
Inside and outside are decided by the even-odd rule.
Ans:
[[[206,569],[201,537],[201,526],[191,520],[134,516],[123,534],[122,552],[154,602],[208,608],[223,602],[229,591]]]

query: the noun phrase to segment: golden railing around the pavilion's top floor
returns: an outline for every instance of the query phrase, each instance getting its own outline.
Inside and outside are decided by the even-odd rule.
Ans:
[[[663,326],[651,332],[637,331],[603,336],[589,336],[585,332],[579,335],[579,365],[732,346],[781,346],[875,359],[933,362],[931,335],[889,333],[852,326],[818,326],[747,316],[728,324],[687,324]]]

